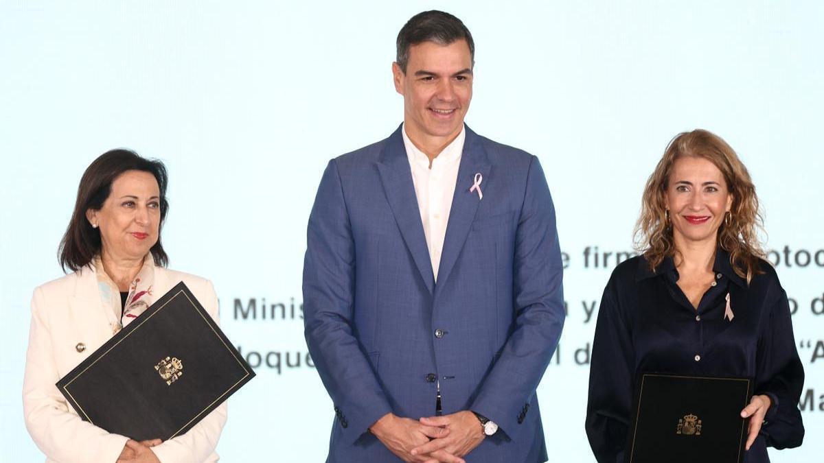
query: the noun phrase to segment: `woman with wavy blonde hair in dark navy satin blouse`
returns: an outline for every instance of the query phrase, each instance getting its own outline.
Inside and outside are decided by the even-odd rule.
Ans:
[[[624,460],[637,372],[750,376],[744,461],[798,447],[804,372],[787,295],[756,236],[758,198],[723,139],[681,133],[650,175],[635,230],[598,312],[587,435],[599,462]]]

